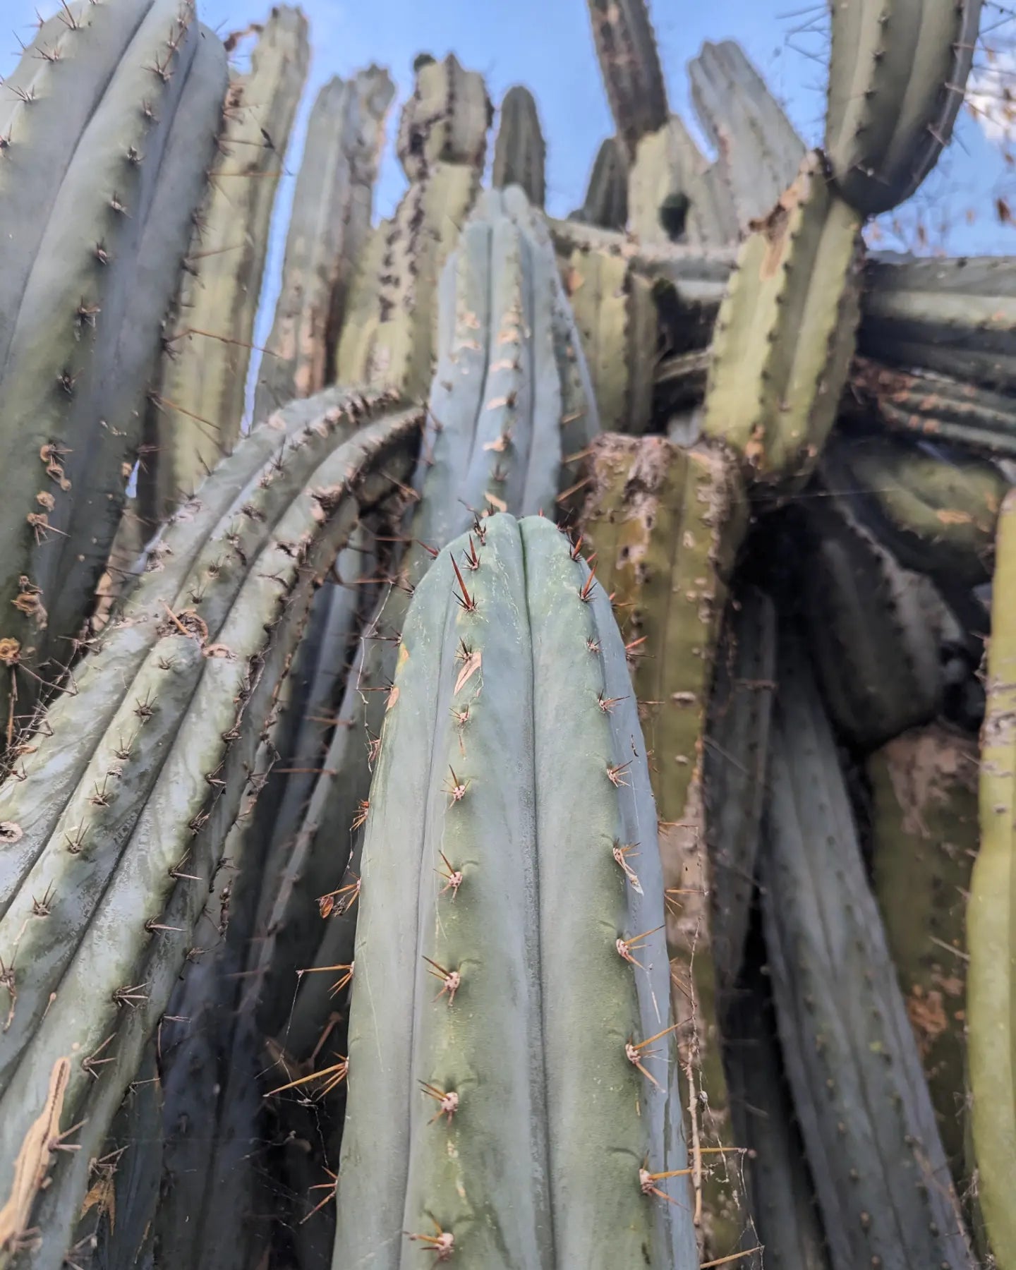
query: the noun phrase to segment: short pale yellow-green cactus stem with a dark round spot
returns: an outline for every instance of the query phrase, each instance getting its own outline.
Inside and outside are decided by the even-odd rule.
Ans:
[[[639,141],[627,202],[631,232],[643,245],[686,243],[712,248],[737,241],[733,198],[714,179],[712,168],[677,116]]]

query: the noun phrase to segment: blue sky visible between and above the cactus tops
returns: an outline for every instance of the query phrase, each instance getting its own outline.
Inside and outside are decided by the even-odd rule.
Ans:
[[[57,8],[44,0],[43,13]],[[202,20],[225,34],[263,18],[269,5],[236,0],[198,0]],[[290,175],[277,199],[277,226],[269,255],[260,334],[271,325],[271,306],[278,286],[287,206],[298,166],[302,130],[316,89],[331,75],[348,75],[371,61],[389,69],[399,102],[411,89],[411,64],[418,52],[460,61],[481,71],[495,104],[512,84],[525,84],[536,95],[547,138],[547,210],[566,215],[583,198],[585,179],[601,140],[613,131],[593,51],[585,0],[304,0],[311,27],[312,62],[309,90],[287,156]],[[0,76],[14,66],[15,37],[30,38],[37,5],[33,0],[0,0]],[[805,142],[822,137],[824,110],[826,3],[809,0],[700,0],[697,4],[657,0],[652,4],[657,38],[668,81],[672,109],[695,128],[687,91],[686,65],[706,39],[733,38],[784,103]],[[982,32],[1005,18],[986,0]],[[13,32],[4,34],[4,27]],[[993,51],[1012,43],[1008,24],[988,36]],[[987,65],[982,48],[975,65]],[[398,104],[396,104],[398,110]],[[395,117],[389,121],[389,137]],[[700,136],[701,140],[701,136]],[[707,147],[704,146],[707,150]],[[968,114],[939,169],[918,196],[895,216],[906,240],[914,241],[922,224],[928,249],[951,253],[1008,254],[1016,251],[1016,229],[1001,224],[997,197],[1008,197],[1016,213],[1016,180],[1002,146],[986,138]],[[387,215],[405,182],[392,152],[385,154],[376,196],[376,216]],[[883,222],[880,245],[898,248],[894,217]]]

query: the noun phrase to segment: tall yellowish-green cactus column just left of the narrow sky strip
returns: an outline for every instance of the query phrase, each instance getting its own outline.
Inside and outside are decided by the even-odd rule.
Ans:
[[[210,197],[194,225],[193,268],[145,420],[157,460],[140,472],[138,503],[151,525],[188,498],[240,436],[272,208],[309,60],[306,18],[276,5],[250,71],[231,79]]]

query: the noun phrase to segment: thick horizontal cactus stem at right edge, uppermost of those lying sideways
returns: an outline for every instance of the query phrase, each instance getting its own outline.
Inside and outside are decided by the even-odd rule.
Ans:
[[[998,392],[1016,387],[1012,257],[906,257],[865,267],[860,352]],[[932,390],[933,391],[933,390]]]

